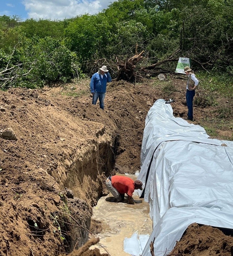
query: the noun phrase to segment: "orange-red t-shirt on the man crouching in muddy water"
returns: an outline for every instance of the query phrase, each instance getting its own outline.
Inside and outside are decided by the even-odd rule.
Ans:
[[[133,196],[134,181],[131,178],[114,175],[112,177],[112,185],[120,194],[127,193],[128,196]]]

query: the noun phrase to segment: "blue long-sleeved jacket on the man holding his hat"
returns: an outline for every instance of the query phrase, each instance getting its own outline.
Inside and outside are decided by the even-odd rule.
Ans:
[[[97,93],[105,93],[106,92],[106,87],[107,87],[107,82],[111,82],[112,78],[109,74],[104,74],[103,79],[101,78],[101,75],[96,72],[90,82],[90,90],[92,93],[97,92]]]

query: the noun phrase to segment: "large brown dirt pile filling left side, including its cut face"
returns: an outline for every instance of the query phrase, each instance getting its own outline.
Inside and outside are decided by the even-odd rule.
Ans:
[[[85,129],[86,121],[75,120],[43,91],[1,92],[1,106],[1,129],[17,138],[1,139],[1,255],[58,254],[72,250],[77,238],[82,245],[101,193],[102,172],[90,159],[101,156],[98,148],[110,145],[111,135],[94,138],[103,125]],[[74,170],[78,178],[71,177]],[[65,187],[78,197],[66,197]]]

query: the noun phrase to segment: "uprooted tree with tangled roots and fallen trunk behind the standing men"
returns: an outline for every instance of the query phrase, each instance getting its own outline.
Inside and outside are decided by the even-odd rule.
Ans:
[[[190,16],[191,17],[191,16]],[[187,19],[189,19],[188,17]],[[181,37],[183,36],[181,31]],[[136,83],[141,78],[151,78],[152,76],[156,76],[160,73],[173,73],[174,71],[171,71],[169,66],[171,62],[178,62],[179,57],[189,57],[192,58],[193,62],[197,63],[198,66],[202,67],[204,70],[207,71],[207,69],[210,69],[217,59],[220,59],[220,53],[223,49],[221,49],[220,53],[217,52],[215,54],[215,57],[212,59],[210,58],[204,58],[199,59],[197,56],[195,56],[195,51],[201,52],[201,49],[198,49],[197,46],[194,49],[190,50],[184,50],[182,49],[182,38],[181,38],[181,45],[174,50],[170,55],[167,55],[165,59],[156,59],[153,57],[149,57],[148,53],[145,52],[145,50],[142,50],[140,53],[138,53],[139,45],[135,45],[133,47],[136,47],[135,55],[131,55],[131,48],[129,50],[129,53],[127,55],[117,55],[114,56],[115,61],[110,58],[107,62],[106,59],[98,59],[94,62],[95,70],[93,70],[93,73],[96,72],[96,68],[100,67],[101,64],[108,65],[109,69],[111,69],[111,74],[115,76],[117,74],[116,80],[125,80],[132,83]],[[142,48],[142,47],[140,47]],[[228,58],[227,61],[230,59]],[[90,63],[89,63],[90,64]],[[93,63],[92,63],[93,64]]]

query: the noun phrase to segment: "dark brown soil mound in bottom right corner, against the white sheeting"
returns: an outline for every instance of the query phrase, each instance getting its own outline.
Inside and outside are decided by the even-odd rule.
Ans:
[[[231,256],[233,237],[224,235],[218,228],[207,225],[200,227],[193,223],[169,255]]]

